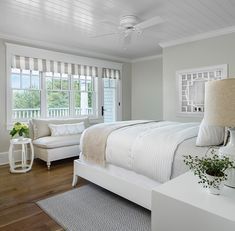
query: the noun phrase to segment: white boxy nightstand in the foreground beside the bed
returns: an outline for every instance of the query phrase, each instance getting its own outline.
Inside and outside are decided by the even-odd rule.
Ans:
[[[209,194],[191,172],[152,191],[152,231],[234,231],[235,189]]]

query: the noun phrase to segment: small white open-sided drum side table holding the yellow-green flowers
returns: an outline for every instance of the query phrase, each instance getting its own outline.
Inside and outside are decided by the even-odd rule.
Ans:
[[[31,157],[30,163],[27,163],[27,145],[29,144],[31,148]],[[14,158],[14,145],[21,145],[21,163],[16,164]],[[9,148],[9,164],[10,164],[10,172],[12,173],[25,173],[32,169],[34,159],[34,149],[32,140],[29,138],[23,139],[12,139],[10,141],[10,148]]]

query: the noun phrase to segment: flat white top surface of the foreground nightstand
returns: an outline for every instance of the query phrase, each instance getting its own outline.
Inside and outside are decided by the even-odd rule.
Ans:
[[[213,195],[197,182],[198,177],[187,172],[153,191],[235,221],[235,189],[224,186],[221,195]]]

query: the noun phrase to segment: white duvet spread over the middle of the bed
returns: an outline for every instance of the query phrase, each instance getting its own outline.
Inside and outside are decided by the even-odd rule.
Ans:
[[[106,162],[165,182],[171,177],[177,147],[197,136],[198,127],[164,121],[117,129],[107,138]]]

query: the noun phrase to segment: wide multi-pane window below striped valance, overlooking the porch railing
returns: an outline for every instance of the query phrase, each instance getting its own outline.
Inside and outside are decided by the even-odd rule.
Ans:
[[[96,79],[91,76],[43,73],[12,68],[11,120],[96,116],[98,111],[96,109]]]

